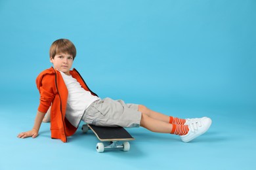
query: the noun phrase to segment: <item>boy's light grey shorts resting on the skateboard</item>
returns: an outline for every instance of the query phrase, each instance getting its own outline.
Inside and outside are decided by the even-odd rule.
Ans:
[[[96,126],[139,127],[141,112],[139,105],[125,104],[122,100],[110,98],[93,102],[86,110],[82,120]]]

